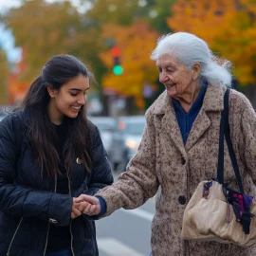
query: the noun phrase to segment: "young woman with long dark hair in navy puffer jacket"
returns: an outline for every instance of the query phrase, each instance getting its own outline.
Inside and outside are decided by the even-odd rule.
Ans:
[[[75,57],[55,56],[1,121],[0,255],[99,255],[95,224],[75,203],[113,183],[85,116],[91,77]]]

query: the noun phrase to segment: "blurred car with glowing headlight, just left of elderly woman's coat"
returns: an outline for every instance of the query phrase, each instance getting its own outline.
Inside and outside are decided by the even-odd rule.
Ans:
[[[146,120],[144,116],[127,116],[119,117],[117,123],[110,155],[114,171],[124,171],[137,153]]]

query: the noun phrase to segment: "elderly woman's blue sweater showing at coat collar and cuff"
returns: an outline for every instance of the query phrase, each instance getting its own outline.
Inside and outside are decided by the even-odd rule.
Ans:
[[[189,113],[186,113],[182,108],[182,106],[180,105],[179,101],[176,101],[173,98],[174,111],[175,111],[176,119],[178,122],[178,126],[180,129],[180,133],[181,133],[184,145],[186,144],[189,134],[192,130],[193,121],[196,119],[203,105],[204,97],[207,90],[207,85],[208,83],[204,82],[197,98],[192,104],[192,107]],[[98,198],[101,204],[101,213],[97,216],[99,218],[106,212],[106,203],[101,196],[99,196]]]

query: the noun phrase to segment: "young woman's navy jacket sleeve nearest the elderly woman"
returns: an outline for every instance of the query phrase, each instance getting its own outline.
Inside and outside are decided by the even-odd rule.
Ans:
[[[93,195],[113,183],[110,164],[97,127],[93,133],[92,173],[86,194]]]

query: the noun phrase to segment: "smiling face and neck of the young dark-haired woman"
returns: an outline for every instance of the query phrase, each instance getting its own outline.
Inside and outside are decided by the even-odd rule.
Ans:
[[[62,123],[64,116],[75,119],[86,101],[86,92],[89,89],[89,78],[79,75],[59,89],[47,86],[50,96],[48,115],[55,124]]]

